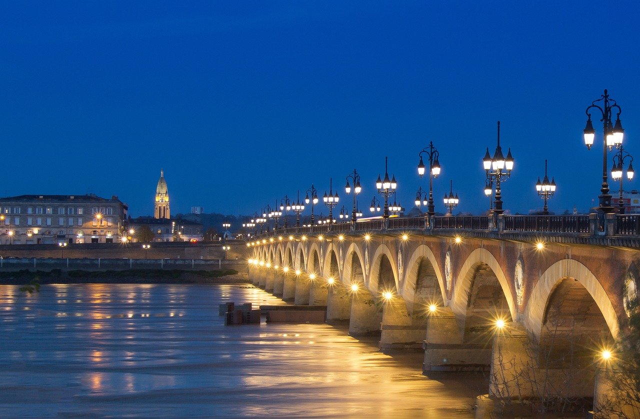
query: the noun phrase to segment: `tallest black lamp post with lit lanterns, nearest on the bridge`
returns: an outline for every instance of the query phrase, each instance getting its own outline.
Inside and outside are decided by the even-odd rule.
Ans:
[[[602,106],[596,104],[596,102],[600,102],[602,100]],[[609,182],[607,177],[607,149],[609,151],[613,150],[613,146],[616,148],[620,148],[622,145],[622,139],[625,134],[625,130],[622,129],[622,123],[620,122],[620,113],[622,109],[616,103],[615,100],[609,98],[609,93],[607,89],[604,90],[604,95],[601,95],[600,99],[596,99],[591,102],[585,111],[588,116],[587,125],[584,128],[584,144],[587,146],[588,150],[591,150],[591,146],[593,145],[593,139],[595,138],[596,131],[593,129],[593,124],[591,123],[591,113],[589,110],[595,108],[600,111],[602,115],[602,119],[600,121],[603,124],[603,133],[604,133],[604,146],[602,148],[602,187],[600,187],[600,195],[598,195],[598,200],[600,201],[600,205],[597,210],[599,212],[613,212],[614,208],[611,206],[611,194],[609,194]],[[611,116],[613,115],[612,109],[617,110],[616,114],[616,123],[611,121]]]

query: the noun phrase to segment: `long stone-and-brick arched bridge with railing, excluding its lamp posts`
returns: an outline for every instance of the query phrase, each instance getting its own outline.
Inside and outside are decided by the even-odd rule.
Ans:
[[[424,372],[486,369],[493,397],[554,391],[598,404],[615,397],[611,376],[598,373],[614,365],[595,360],[625,334],[637,298],[639,221],[501,215],[280,228],[247,243],[249,276],[286,301],[326,305],[327,321],[348,320],[351,335],[380,333],[383,350],[423,349]]]

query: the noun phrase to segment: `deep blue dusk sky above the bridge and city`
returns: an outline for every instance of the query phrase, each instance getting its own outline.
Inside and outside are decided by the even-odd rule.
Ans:
[[[500,120],[515,157],[504,208],[542,207],[548,159],[549,209],[586,211],[602,124],[588,151],[584,111],[605,88],[640,156],[639,12],[637,1],[6,1],[0,195],[115,194],[150,215],[163,168],[172,214],[251,214],[312,183],[321,196],[330,177],[350,209],[355,168],[365,209],[388,155],[410,209],[433,141],[436,211],[452,179],[454,212],[480,214]]]

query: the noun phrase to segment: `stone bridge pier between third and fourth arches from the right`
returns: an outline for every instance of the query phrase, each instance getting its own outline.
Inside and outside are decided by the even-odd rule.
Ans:
[[[381,350],[385,349],[420,349],[424,340],[426,315],[410,314],[406,304],[400,299],[387,301],[382,309],[380,326]]]

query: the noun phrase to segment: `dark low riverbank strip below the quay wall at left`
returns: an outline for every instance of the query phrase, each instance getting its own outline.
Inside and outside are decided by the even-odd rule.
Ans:
[[[247,273],[234,269],[221,271],[187,271],[182,269],[127,269],[122,271],[83,271],[52,269],[51,271],[0,272],[0,285],[77,284],[77,283],[250,283]]]

